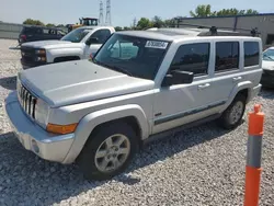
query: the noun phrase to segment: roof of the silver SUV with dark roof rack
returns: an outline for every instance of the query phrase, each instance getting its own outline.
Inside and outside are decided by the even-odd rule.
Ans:
[[[184,28],[149,28],[146,31],[121,31],[118,32],[124,35],[138,36],[144,38],[153,38],[159,41],[172,42],[175,39],[182,39],[185,37],[205,37],[205,36],[221,36],[221,37],[251,37],[251,34],[239,33],[232,31],[218,30],[217,35],[212,35],[208,28],[194,28],[194,27],[184,27]]]

